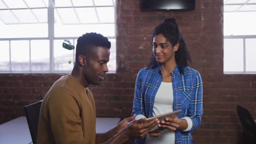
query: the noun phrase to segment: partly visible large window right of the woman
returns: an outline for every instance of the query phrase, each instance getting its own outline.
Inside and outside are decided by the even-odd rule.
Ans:
[[[256,74],[256,0],[224,0],[224,74]]]

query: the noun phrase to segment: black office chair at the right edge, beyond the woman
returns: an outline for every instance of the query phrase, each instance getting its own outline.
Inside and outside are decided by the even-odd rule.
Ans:
[[[256,143],[256,123],[249,110],[241,105],[236,106],[237,114],[243,128],[245,143]]]

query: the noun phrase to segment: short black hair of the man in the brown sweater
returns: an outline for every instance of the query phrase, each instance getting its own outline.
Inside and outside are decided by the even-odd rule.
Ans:
[[[110,49],[111,43],[108,38],[104,37],[99,33],[86,33],[77,39],[77,46],[75,51],[75,63],[78,63],[78,56],[86,56],[88,49],[94,49],[95,47],[106,47]]]

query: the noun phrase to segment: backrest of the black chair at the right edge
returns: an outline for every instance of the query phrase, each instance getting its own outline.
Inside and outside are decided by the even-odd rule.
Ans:
[[[237,105],[236,110],[240,122],[242,123],[243,130],[252,134],[256,134],[256,123],[250,111],[241,105]]]

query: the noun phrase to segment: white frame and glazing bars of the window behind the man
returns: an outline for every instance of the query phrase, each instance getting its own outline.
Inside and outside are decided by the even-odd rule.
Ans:
[[[2,1],[2,0],[0,0]],[[43,0],[42,0],[43,1]],[[54,40],[64,40],[64,39],[69,39],[72,40],[71,43],[74,44],[74,41],[78,39],[78,37],[54,37],[54,0],[49,0],[49,6],[48,6],[48,37],[39,37],[39,38],[0,38],[0,41],[9,41],[9,70],[0,70],[0,73],[14,73],[14,74],[22,74],[22,73],[40,73],[40,74],[49,74],[49,73],[56,73],[56,74],[69,74],[71,73],[71,70],[54,70]],[[94,3],[94,8],[96,9],[95,6],[95,2],[94,0],[92,0],[92,2]],[[114,11],[116,10],[115,8],[115,1],[112,0],[113,2],[113,7],[114,7]],[[72,3],[72,2],[71,2]],[[73,3],[72,3],[73,4]],[[97,6],[97,7],[104,7],[104,6]],[[109,6],[106,6],[109,7]],[[62,8],[62,7],[56,7],[56,8]],[[67,8],[67,7],[65,7]],[[77,7],[71,7],[71,8],[77,8]],[[82,7],[79,7],[82,8]],[[83,7],[84,8],[84,7]],[[86,7],[85,7],[86,8]],[[9,9],[9,8],[8,8]],[[19,8],[16,8],[19,9]],[[21,9],[26,9],[26,8],[21,8]],[[34,8],[37,9],[37,8]],[[3,10],[3,9],[2,9]],[[97,13],[97,10],[96,10]],[[59,13],[57,13],[59,15]],[[115,20],[115,12],[114,12],[114,20]],[[18,17],[16,17],[18,19]],[[77,17],[78,18],[78,17]],[[98,15],[97,15],[97,19],[99,19]],[[1,20],[1,19],[0,19]],[[19,20],[19,19],[18,19]],[[40,22],[38,22],[40,23]],[[21,23],[20,23],[21,24]],[[68,24],[68,25],[75,25],[78,23],[74,23],[74,24]],[[81,23],[80,23],[81,24]],[[82,23],[82,24],[89,24],[89,25],[97,25],[97,24],[104,24],[103,22],[100,23]],[[114,22],[114,30],[116,32],[116,21]],[[80,36],[80,35],[78,35]],[[108,39],[115,39],[116,40],[116,33],[114,35],[114,37],[107,37]],[[29,41],[29,50],[30,50],[30,70],[27,71],[13,71],[11,70],[11,41],[13,40],[28,40]],[[45,70],[45,71],[32,71],[31,70],[31,40],[49,40],[49,47],[50,47],[50,60],[49,60],[49,70]],[[116,47],[112,47],[112,49],[116,49]],[[75,51],[73,50],[73,61],[75,62]],[[117,63],[116,63],[117,64]],[[109,71],[108,73],[116,73],[116,70],[112,70]]]

